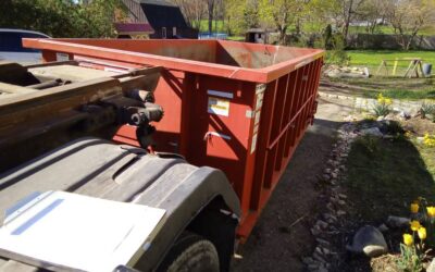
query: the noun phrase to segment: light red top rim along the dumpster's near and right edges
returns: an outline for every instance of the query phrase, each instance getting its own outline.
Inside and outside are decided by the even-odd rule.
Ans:
[[[108,41],[110,41],[110,39],[108,39]],[[319,58],[322,58],[325,54],[324,50],[312,49],[312,52],[290,59],[288,61],[283,61],[261,69],[249,69],[174,57],[74,44],[71,41],[64,41],[63,39],[23,38],[23,46],[27,48],[40,49],[42,51],[48,50],[55,52],[73,53],[85,57],[101,58],[104,60],[116,60],[144,65],[161,65],[167,70],[192,72],[197,74],[212,75],[253,83],[272,82],[306,64],[311,63]]]

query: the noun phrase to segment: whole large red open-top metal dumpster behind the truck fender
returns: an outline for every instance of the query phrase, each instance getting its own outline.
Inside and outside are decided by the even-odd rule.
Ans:
[[[163,66],[156,100],[157,149],[223,170],[238,194],[238,230],[251,232],[312,123],[322,50],[224,40],[25,39],[45,61],[79,60],[105,70]],[[135,128],[114,137],[137,144]]]

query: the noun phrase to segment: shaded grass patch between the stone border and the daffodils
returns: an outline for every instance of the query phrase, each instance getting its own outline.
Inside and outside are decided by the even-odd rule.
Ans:
[[[360,138],[347,160],[345,186],[365,222],[388,215],[409,215],[418,197],[435,203],[435,148],[417,146],[400,136],[395,140]]]

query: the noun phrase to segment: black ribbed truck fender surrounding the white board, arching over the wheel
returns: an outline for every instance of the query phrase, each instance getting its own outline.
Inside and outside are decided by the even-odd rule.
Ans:
[[[229,269],[240,206],[220,170],[197,168],[176,156],[160,158],[140,148],[86,137],[0,174],[0,210],[5,211],[34,191],[46,190],[164,209],[163,226],[130,262],[137,261],[141,271],[159,270],[159,263],[184,231],[212,242],[221,271]],[[29,264],[30,270],[45,268],[30,259],[16,261]]]

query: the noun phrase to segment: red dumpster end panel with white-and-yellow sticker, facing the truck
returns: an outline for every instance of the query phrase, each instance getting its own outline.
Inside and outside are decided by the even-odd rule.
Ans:
[[[190,97],[190,120],[195,121],[188,128],[187,160],[225,171],[245,213],[253,174],[254,87],[252,83],[197,75],[198,89]]]

